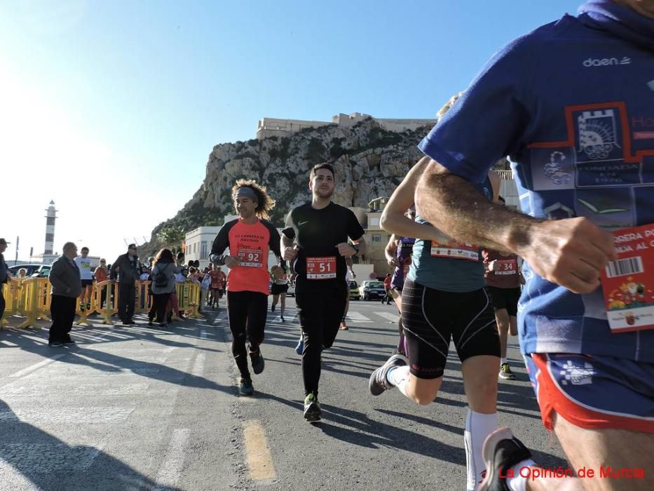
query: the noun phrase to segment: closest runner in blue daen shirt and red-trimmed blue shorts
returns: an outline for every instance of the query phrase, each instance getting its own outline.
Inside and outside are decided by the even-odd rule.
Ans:
[[[654,330],[611,332],[599,278],[616,259],[611,231],[654,223],[653,78],[654,2],[591,0],[498,52],[420,144],[425,220],[525,260],[521,347],[573,469],[652,470]],[[471,185],[505,155],[527,215]],[[517,473],[529,451],[508,430],[484,457],[482,489],[543,484]],[[623,485],[653,489],[654,476]]]

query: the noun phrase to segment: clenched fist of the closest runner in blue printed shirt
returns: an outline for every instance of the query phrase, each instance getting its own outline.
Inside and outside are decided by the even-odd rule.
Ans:
[[[584,217],[531,224],[516,252],[547,281],[574,293],[594,292],[606,263],[618,259],[613,235]]]

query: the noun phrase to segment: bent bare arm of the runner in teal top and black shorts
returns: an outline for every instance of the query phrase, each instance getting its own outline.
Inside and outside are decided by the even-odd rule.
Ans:
[[[404,237],[423,238],[425,240],[437,240],[436,230],[428,224],[416,223],[404,215],[411,205],[414,204],[416,184],[420,176],[427,168],[430,159],[423,157],[409,170],[404,180],[400,182],[397,189],[390,195],[390,199],[381,214],[380,226],[382,229]]]

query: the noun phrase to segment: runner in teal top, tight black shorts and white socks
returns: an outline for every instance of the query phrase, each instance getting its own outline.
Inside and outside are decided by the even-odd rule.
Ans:
[[[383,229],[416,237],[411,267],[402,288],[402,326],[409,358],[401,354],[388,358],[370,375],[369,389],[379,396],[397,387],[418,404],[432,403],[443,381],[452,339],[461,360],[470,406],[464,436],[466,489],[475,490],[484,477],[482,445],[498,426],[500,340],[493,305],[484,290],[479,248],[451,243],[451,238],[424,220],[420,206],[416,207],[415,221],[405,215],[413,205],[416,183],[429,162],[424,157],[409,170],[382,214]],[[486,199],[497,199],[499,183],[500,177],[492,172],[477,189]]]

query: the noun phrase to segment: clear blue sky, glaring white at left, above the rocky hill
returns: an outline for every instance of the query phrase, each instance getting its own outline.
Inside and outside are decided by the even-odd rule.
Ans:
[[[54,199],[55,249],[111,261],[259,118],[432,118],[500,46],[579,3],[3,2],[0,237],[41,253]]]

